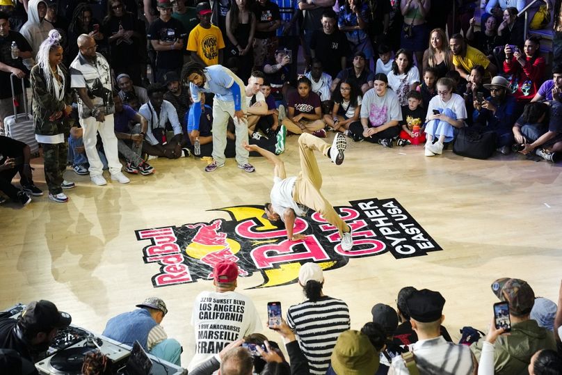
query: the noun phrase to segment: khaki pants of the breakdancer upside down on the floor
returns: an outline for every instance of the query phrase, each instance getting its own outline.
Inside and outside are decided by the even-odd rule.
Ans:
[[[328,221],[334,225],[341,235],[342,232],[348,232],[348,225],[335,212],[330,202],[322,196],[320,188],[322,187],[322,175],[314,157],[314,150],[321,152],[328,157],[330,145],[320,138],[312,134],[302,134],[298,137],[298,153],[300,157],[300,173],[296,177],[295,187],[293,189],[293,199],[314,209]]]

